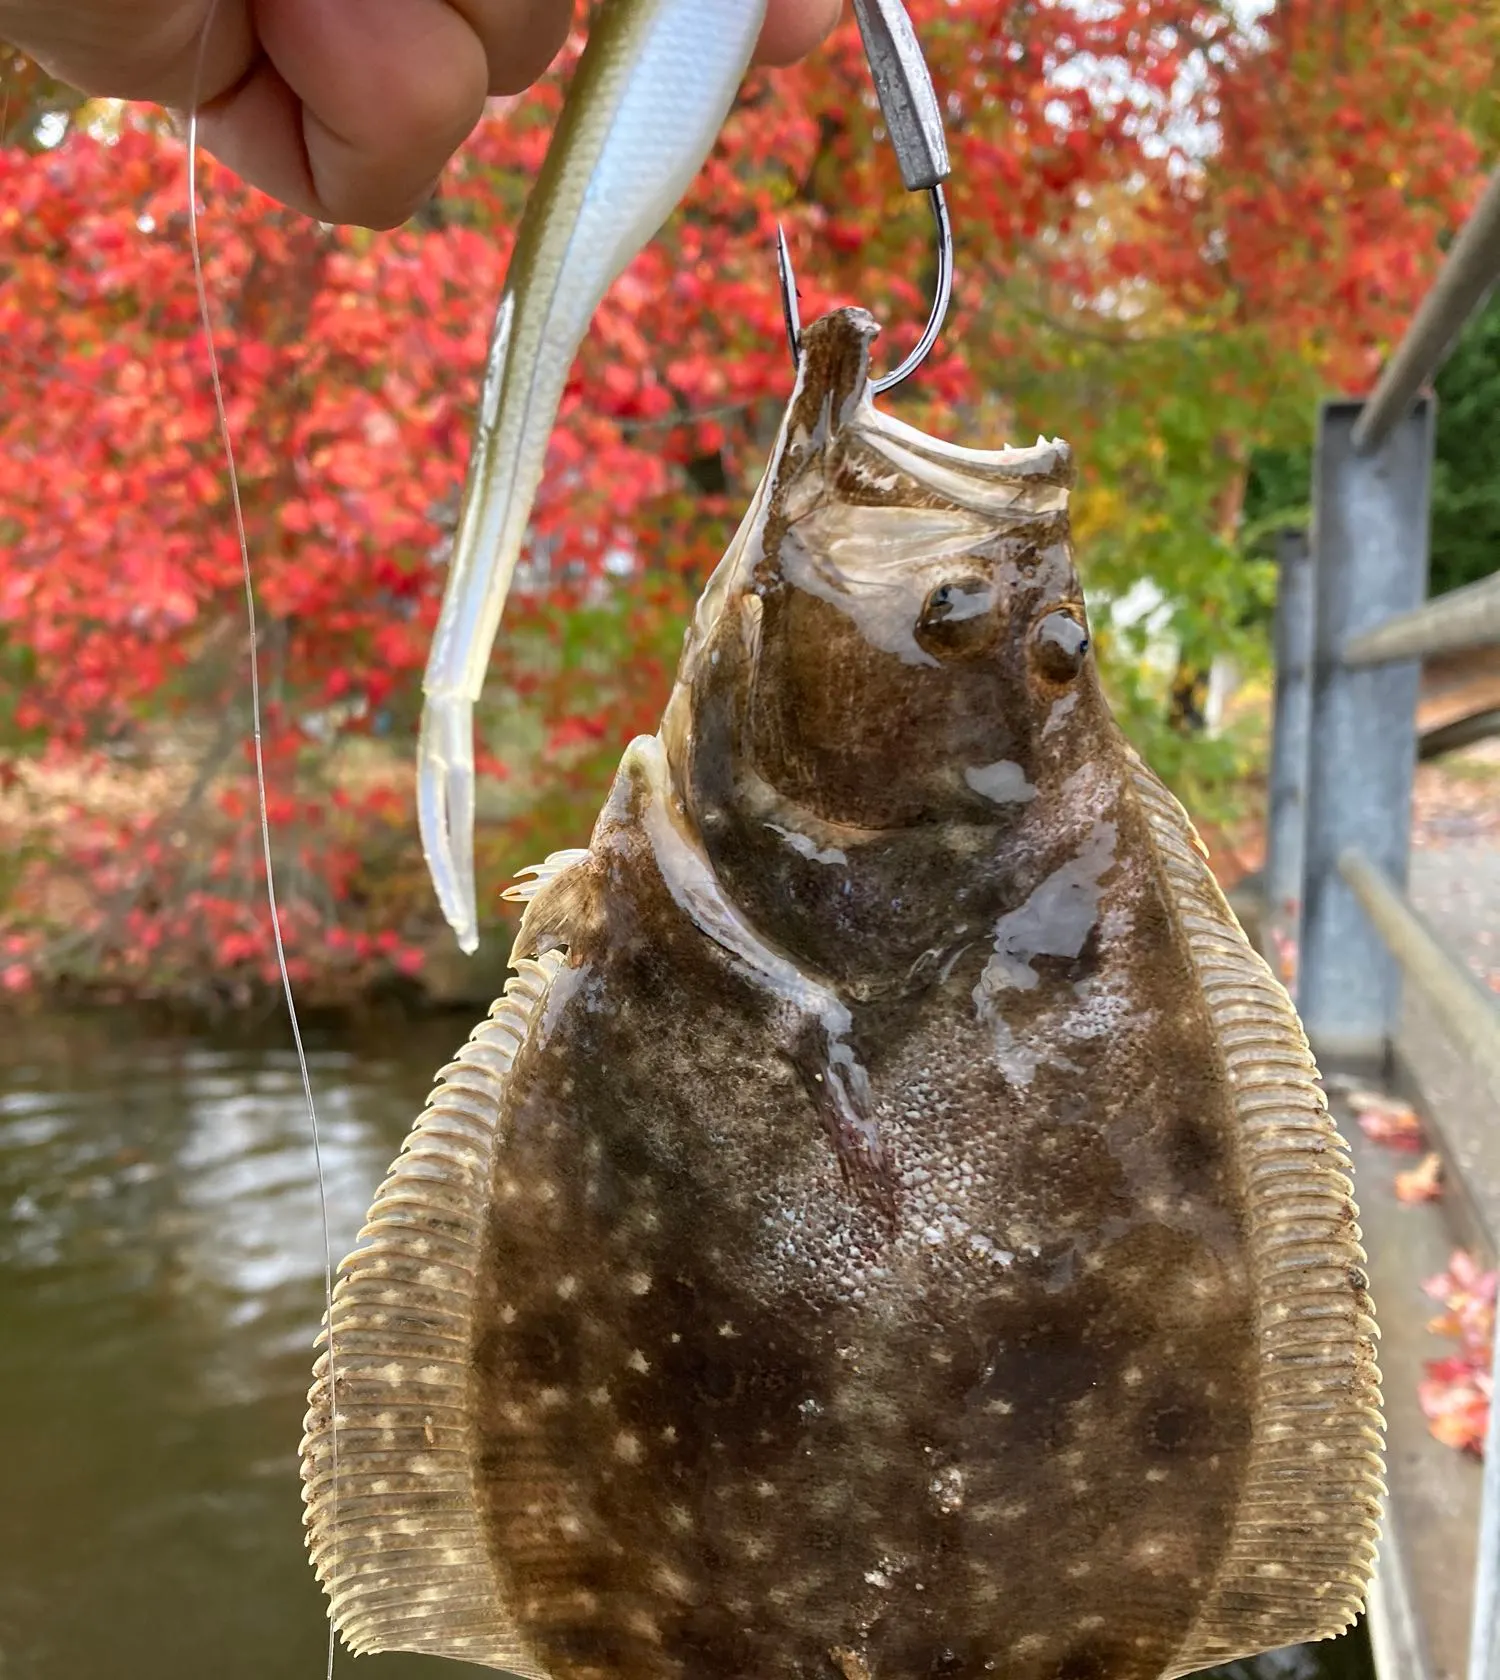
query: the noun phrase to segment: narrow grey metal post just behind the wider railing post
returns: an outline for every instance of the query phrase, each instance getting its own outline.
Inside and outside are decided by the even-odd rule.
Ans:
[[[1302,853],[1307,827],[1307,731],[1312,716],[1312,554],[1305,531],[1277,538],[1275,711],[1267,811],[1265,892],[1270,926],[1302,944]],[[1287,964],[1282,964],[1287,968]],[[1295,983],[1295,973],[1282,978]]]

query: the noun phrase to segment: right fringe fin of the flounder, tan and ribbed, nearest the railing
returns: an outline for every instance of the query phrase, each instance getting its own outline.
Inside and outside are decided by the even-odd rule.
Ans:
[[[1235,1529],[1169,1673],[1342,1633],[1374,1567],[1381,1373],[1349,1152],[1285,990],[1251,949],[1183,806],[1132,754],[1238,1119],[1256,1280],[1255,1433]]]

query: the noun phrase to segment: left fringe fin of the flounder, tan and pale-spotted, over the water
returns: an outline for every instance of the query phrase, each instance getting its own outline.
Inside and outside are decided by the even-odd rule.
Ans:
[[[338,1487],[323,1352],[302,1502],[314,1569],[358,1655],[425,1651],[546,1680],[506,1613],[509,1589],[480,1522],[472,1314],[506,1082],[563,961],[549,951],[516,964],[440,1072],[361,1247],[339,1267]]]

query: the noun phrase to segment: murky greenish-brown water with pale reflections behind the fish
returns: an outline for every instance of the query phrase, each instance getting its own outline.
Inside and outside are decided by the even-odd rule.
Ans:
[[[336,1257],[465,1032],[309,1037]],[[279,1033],[124,1011],[0,1018],[0,1680],[319,1680],[296,1457],[323,1248],[296,1062]],[[1230,1672],[1371,1680],[1362,1638]]]

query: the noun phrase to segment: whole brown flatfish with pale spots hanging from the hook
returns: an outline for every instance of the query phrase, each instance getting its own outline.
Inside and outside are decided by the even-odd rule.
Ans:
[[[1151,1680],[1344,1628],[1379,1373],[1285,995],[1099,690],[1063,445],[806,336],[658,736],[333,1314],[356,1650]]]

